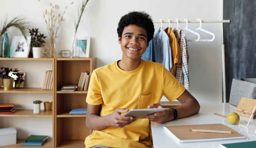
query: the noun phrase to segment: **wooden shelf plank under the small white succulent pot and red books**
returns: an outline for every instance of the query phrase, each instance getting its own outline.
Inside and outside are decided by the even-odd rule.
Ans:
[[[52,117],[52,111],[41,110],[40,113],[34,114],[33,109],[15,109],[12,114],[0,114],[0,117]]]

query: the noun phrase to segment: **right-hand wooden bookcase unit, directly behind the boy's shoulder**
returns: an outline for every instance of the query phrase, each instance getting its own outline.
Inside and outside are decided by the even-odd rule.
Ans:
[[[63,85],[78,84],[81,72],[96,68],[96,58],[55,59],[55,147],[84,148],[85,138],[91,134],[86,127],[86,115],[69,115],[75,108],[87,108],[87,91],[59,91]]]

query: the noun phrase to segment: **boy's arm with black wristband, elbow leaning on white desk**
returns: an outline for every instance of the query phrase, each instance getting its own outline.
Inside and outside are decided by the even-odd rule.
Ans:
[[[177,118],[184,118],[196,114],[200,110],[200,105],[197,100],[185,90],[182,95],[177,99],[180,101],[181,105],[176,107],[178,114]],[[148,108],[162,108],[162,106],[157,104],[152,104]],[[174,119],[172,109],[167,109],[162,112],[148,115],[148,119],[152,122],[165,123]]]

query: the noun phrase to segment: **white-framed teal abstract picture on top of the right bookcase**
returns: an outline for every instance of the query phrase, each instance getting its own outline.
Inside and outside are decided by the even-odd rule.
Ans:
[[[80,58],[90,57],[90,37],[77,37],[74,56]]]

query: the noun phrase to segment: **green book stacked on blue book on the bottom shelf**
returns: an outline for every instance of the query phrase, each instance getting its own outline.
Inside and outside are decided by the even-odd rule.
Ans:
[[[45,142],[48,136],[41,135],[31,135],[25,142],[22,143],[23,146],[41,146]]]

